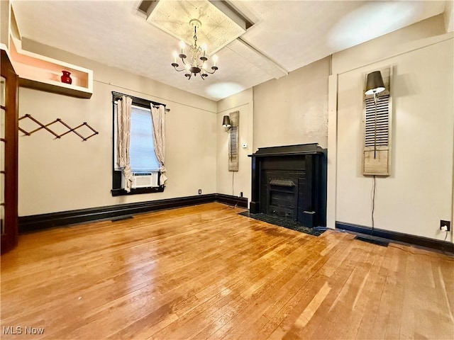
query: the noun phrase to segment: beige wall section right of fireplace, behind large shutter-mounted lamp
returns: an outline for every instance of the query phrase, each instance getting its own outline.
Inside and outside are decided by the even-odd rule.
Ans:
[[[445,238],[440,220],[453,218],[454,45],[453,34],[443,33],[438,16],[333,55],[337,135],[328,154],[337,149],[337,164],[328,163],[336,179],[328,196],[334,192],[336,202],[328,217],[371,226],[372,179],[361,174],[362,91],[365,74],[392,67],[392,174],[377,178],[375,227]]]

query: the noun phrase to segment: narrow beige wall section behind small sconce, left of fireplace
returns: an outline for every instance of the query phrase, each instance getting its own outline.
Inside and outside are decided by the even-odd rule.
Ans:
[[[221,101],[217,106],[217,172],[216,191],[226,195],[243,196],[250,199],[251,170],[250,157],[253,153],[253,89],[248,89]],[[228,133],[222,125],[222,118],[231,112],[240,112],[239,165],[238,171],[228,171]],[[243,148],[243,144],[248,147]]]

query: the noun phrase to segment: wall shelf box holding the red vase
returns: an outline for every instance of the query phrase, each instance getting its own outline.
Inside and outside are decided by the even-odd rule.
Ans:
[[[22,50],[21,40],[13,36],[10,40],[10,54],[19,76],[19,86],[77,98],[90,98],[93,94],[91,69]],[[72,84],[62,83],[62,70],[71,72]]]

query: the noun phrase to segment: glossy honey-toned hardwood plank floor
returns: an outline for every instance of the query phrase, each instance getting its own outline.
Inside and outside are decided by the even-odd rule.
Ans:
[[[240,211],[21,235],[1,256],[1,338],[454,339],[452,256]]]

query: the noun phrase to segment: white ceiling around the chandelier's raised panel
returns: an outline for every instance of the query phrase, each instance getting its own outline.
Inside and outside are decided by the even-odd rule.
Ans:
[[[445,1],[233,0],[253,26],[216,53],[216,74],[187,80],[170,65],[178,39],[148,23],[139,0],[12,3],[23,38],[215,101],[445,9]]]

